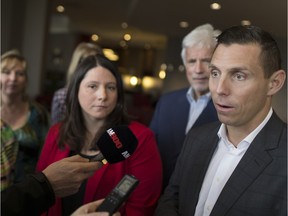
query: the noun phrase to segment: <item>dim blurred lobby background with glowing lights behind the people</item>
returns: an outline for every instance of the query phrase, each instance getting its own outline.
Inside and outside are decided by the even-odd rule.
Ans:
[[[240,15],[243,15],[243,19],[249,19],[251,15],[252,24],[272,33],[279,44],[283,68],[287,72],[286,0],[265,0],[265,7],[260,0],[254,0],[252,6],[243,7],[239,7],[235,1],[234,6],[227,3],[226,7],[226,2],[220,1],[223,2],[221,10],[225,13],[221,19],[218,19],[221,10],[209,13],[199,11],[197,15],[193,12],[195,8],[198,10],[198,6],[199,10],[204,10],[204,4],[210,11],[208,7],[213,3],[211,1],[104,1],[106,4],[99,0],[1,0],[1,54],[15,48],[22,52],[28,61],[28,94],[48,110],[54,91],[65,85],[66,71],[74,48],[79,42],[94,40],[107,49],[107,55],[114,58],[119,66],[129,112],[137,116],[139,121],[149,124],[155,104],[163,93],[188,86],[180,57],[183,37],[205,23],[211,23],[220,30],[238,25],[241,20],[235,21],[233,18]],[[237,2],[250,4],[250,1]],[[179,4],[177,7],[175,2]],[[255,4],[258,4],[257,8]],[[275,4],[277,8],[274,8]],[[56,10],[59,5],[64,6],[64,11]],[[93,14],[94,10],[99,15],[95,24],[92,15],[83,21],[86,18],[84,8],[87,6],[91,7],[90,13],[92,11]],[[79,20],[77,10],[82,10],[78,15]],[[121,16],[122,20],[119,18]],[[257,16],[261,17],[261,23],[256,21]],[[187,21],[185,19],[188,22],[182,22],[182,28],[174,27],[178,22]],[[131,38],[129,35],[126,35],[128,38],[124,36],[126,33]],[[274,97],[273,108],[287,122],[287,80]]]

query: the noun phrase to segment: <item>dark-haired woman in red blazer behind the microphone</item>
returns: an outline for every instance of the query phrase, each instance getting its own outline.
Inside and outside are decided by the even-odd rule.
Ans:
[[[105,164],[85,181],[79,191],[59,198],[47,215],[71,215],[79,206],[105,198],[125,174],[140,180],[121,215],[153,215],[162,186],[162,164],[152,131],[125,112],[121,75],[106,57],[93,55],[77,67],[69,84],[65,119],[50,128],[37,169],[74,155],[89,155],[100,135],[112,126],[128,125],[138,140],[135,152],[126,160]]]

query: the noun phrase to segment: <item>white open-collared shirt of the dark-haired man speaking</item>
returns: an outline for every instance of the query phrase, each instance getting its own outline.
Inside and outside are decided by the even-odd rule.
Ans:
[[[237,148],[228,140],[226,127],[221,125],[218,131],[219,143],[202,183],[195,216],[209,216],[223,187],[230,178],[239,161],[257,134],[272,116],[272,108],[262,123],[245,137]]]

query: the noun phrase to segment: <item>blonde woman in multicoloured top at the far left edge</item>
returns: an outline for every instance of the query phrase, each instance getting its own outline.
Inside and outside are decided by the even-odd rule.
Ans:
[[[27,62],[17,50],[1,56],[1,191],[35,171],[50,126],[48,111],[25,93]]]

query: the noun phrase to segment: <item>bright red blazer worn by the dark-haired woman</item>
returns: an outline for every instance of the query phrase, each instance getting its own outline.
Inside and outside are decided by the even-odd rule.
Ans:
[[[125,161],[106,164],[88,179],[84,203],[104,198],[116,186],[125,174],[132,174],[140,180],[138,187],[121,208],[121,215],[153,215],[162,188],[162,163],[152,131],[138,123],[132,122],[129,128],[138,139],[136,151]],[[42,171],[51,163],[69,155],[70,149],[59,149],[57,137],[59,124],[52,126],[43,146],[37,170]],[[61,215],[61,198],[49,209],[48,215]]]

